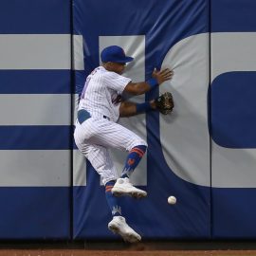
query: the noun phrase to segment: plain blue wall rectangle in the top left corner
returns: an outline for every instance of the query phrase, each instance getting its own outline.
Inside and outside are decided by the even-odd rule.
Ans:
[[[1,2],[0,34],[68,34],[70,0]]]

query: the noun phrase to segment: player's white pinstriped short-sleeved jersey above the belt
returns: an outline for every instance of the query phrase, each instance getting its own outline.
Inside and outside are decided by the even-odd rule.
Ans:
[[[95,68],[85,81],[79,109],[87,110],[92,117],[106,116],[116,122],[119,119],[118,99],[129,82],[129,78],[107,71],[103,66]]]

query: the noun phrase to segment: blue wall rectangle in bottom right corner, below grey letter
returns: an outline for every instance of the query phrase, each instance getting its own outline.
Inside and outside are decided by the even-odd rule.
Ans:
[[[256,189],[212,189],[212,238],[256,237]]]

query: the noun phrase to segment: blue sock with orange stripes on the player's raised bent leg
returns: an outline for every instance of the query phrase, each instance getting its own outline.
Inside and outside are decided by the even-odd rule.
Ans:
[[[138,145],[129,152],[129,155],[126,158],[124,168],[121,173],[121,177],[130,177],[130,175],[136,169],[138,163],[140,162],[142,156],[145,154],[147,146]]]

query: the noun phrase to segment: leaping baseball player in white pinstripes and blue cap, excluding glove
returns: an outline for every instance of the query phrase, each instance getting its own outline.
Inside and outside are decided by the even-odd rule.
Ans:
[[[117,121],[119,117],[157,109],[157,105],[155,100],[144,103],[121,101],[121,94],[141,95],[173,77],[170,69],[155,70],[147,82],[132,82],[121,74],[125,64],[133,59],[119,46],[108,46],[101,51],[102,65],[92,71],[84,84],[74,132],[79,150],[101,175],[105,186],[106,200],[113,215],[108,229],[130,243],[140,241],[141,237],[122,216],[119,196],[141,198],[147,195],[129,180],[147,150],[147,143]],[[128,152],[120,177],[110,157],[110,148]]]

